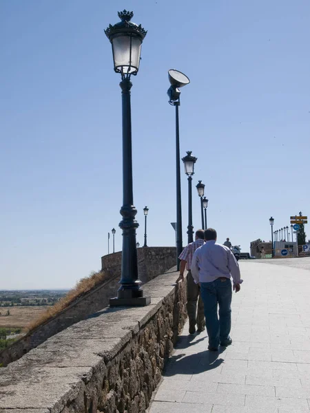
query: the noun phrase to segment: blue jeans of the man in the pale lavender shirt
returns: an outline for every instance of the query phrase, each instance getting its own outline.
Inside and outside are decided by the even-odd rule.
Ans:
[[[200,286],[200,294],[205,307],[205,326],[209,336],[209,346],[216,348],[220,343],[224,344],[229,339],[231,281],[228,278],[218,278],[213,282],[202,282]]]

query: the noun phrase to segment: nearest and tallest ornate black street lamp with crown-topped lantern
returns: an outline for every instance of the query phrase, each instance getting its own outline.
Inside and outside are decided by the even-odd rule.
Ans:
[[[138,278],[138,257],[136,252],[136,208],[132,189],[132,120],[130,106],[130,77],[139,70],[141,44],[147,34],[141,25],[130,21],[133,12],[118,12],[121,19],[105,30],[112,43],[114,71],[121,74],[123,112],[123,207],[119,226],[123,230],[123,250],[121,266],[121,287],[117,297],[110,299],[110,306],[146,306],[150,297],[143,297],[141,280]]]

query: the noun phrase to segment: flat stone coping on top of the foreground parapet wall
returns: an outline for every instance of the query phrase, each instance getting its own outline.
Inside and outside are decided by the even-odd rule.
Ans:
[[[0,368],[0,413],[59,413],[175,294],[176,267],[144,285],[146,307],[103,308]]]

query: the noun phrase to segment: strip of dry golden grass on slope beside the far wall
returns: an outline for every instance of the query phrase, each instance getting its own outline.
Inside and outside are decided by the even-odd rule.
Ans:
[[[28,331],[34,330],[34,328],[39,327],[41,324],[45,323],[55,315],[61,313],[62,310],[69,307],[72,302],[90,291],[95,286],[101,284],[105,280],[105,273],[92,273],[89,277],[80,279],[76,283],[76,286],[68,292],[65,297],[61,298],[54,306],[46,308],[46,311],[40,315],[37,319],[34,319],[30,324],[28,324]]]

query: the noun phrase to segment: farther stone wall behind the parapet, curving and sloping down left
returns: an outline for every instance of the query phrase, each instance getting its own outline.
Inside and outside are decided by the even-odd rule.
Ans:
[[[41,324],[28,335],[12,343],[12,346],[2,350],[0,352],[0,363],[3,366],[20,359],[23,354],[39,346],[46,339],[108,306],[109,299],[116,296],[119,288],[121,253],[106,255],[101,258],[101,262],[103,271],[108,275],[103,284],[78,297],[56,317]],[[172,268],[175,263],[175,247],[138,248],[138,271],[143,282],[164,273],[168,268]]]

